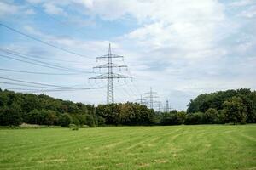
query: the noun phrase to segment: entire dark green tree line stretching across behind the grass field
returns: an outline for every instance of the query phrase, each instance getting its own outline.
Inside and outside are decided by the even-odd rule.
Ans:
[[[242,88],[201,94],[190,100],[187,111],[160,112],[138,103],[84,105],[0,88],[0,125],[23,122],[62,127],[255,123],[256,92]]]

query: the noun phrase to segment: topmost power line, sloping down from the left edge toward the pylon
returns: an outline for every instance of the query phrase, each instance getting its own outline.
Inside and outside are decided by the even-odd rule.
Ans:
[[[6,25],[4,25],[4,24],[1,23],[1,22],[0,22],[0,26],[3,26],[3,27],[5,27],[5,28],[9,29],[10,31],[15,31],[16,33],[19,33],[20,35],[23,35],[23,36],[25,36],[25,37],[31,38],[31,39],[34,40],[34,41],[44,43],[45,45],[48,45],[48,46],[50,46],[50,47],[52,47],[52,48],[57,48],[57,49],[59,49],[59,50],[61,50],[61,51],[64,51],[64,52],[66,52],[66,53],[74,54],[74,55],[77,55],[77,56],[79,56],[79,57],[84,57],[84,58],[90,59],[89,57],[84,56],[84,55],[82,55],[82,54],[75,53],[75,52],[70,51],[70,50],[67,50],[67,49],[65,49],[65,48],[60,48],[60,47],[55,46],[55,45],[53,45],[53,44],[51,44],[51,43],[49,43],[49,42],[44,42],[43,40],[40,40],[40,39],[37,38],[37,37],[32,37],[32,36],[30,36],[30,35],[28,35],[28,34],[26,34],[26,33],[24,33],[24,32],[18,31],[18,30],[14,29],[14,28],[12,28],[12,27],[10,27],[10,26],[6,26]]]

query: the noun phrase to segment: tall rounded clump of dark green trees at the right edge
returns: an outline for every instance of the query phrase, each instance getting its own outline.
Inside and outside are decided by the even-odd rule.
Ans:
[[[188,113],[205,113],[204,123],[256,122],[256,92],[247,88],[201,94],[188,106]]]

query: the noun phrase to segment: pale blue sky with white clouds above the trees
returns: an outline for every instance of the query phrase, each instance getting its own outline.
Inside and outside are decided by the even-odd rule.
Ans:
[[[1,0],[0,24],[1,88],[34,94],[45,90],[3,78],[96,88],[44,94],[106,103],[107,82],[89,78],[106,72],[92,72],[92,67],[106,63],[96,57],[108,54],[111,43],[112,53],[124,56],[114,62],[128,65],[127,71],[114,72],[133,77],[113,82],[115,102],[147,97],[152,87],[161,108],[168,99],[173,109],[185,110],[199,94],[256,89],[255,0]],[[66,70],[27,63],[31,59]]]

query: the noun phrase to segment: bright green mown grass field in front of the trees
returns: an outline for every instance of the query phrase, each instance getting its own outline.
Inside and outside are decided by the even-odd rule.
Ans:
[[[256,125],[1,129],[0,169],[256,169]]]

